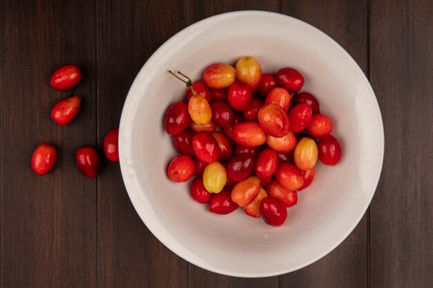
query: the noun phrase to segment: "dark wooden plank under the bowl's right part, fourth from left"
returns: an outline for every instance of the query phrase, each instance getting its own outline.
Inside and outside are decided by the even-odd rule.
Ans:
[[[311,23],[344,47],[367,73],[367,1],[283,1],[282,12]],[[367,219],[321,260],[282,276],[282,287],[367,287]]]

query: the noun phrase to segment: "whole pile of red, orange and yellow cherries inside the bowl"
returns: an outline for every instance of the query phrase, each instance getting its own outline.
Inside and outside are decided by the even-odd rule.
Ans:
[[[341,146],[331,118],[316,97],[299,92],[304,77],[294,68],[263,74],[259,61],[217,63],[195,81],[169,71],[187,86],[184,101],[165,113],[165,130],[178,153],[168,165],[174,182],[190,180],[190,193],[209,211],[246,214],[282,225],[297,192],[315,177],[317,159],[333,166]]]

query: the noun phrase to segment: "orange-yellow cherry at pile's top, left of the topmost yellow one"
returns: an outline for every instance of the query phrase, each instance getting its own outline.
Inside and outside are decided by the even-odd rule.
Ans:
[[[223,89],[236,80],[236,69],[228,64],[217,63],[206,68],[203,81],[211,89]]]

